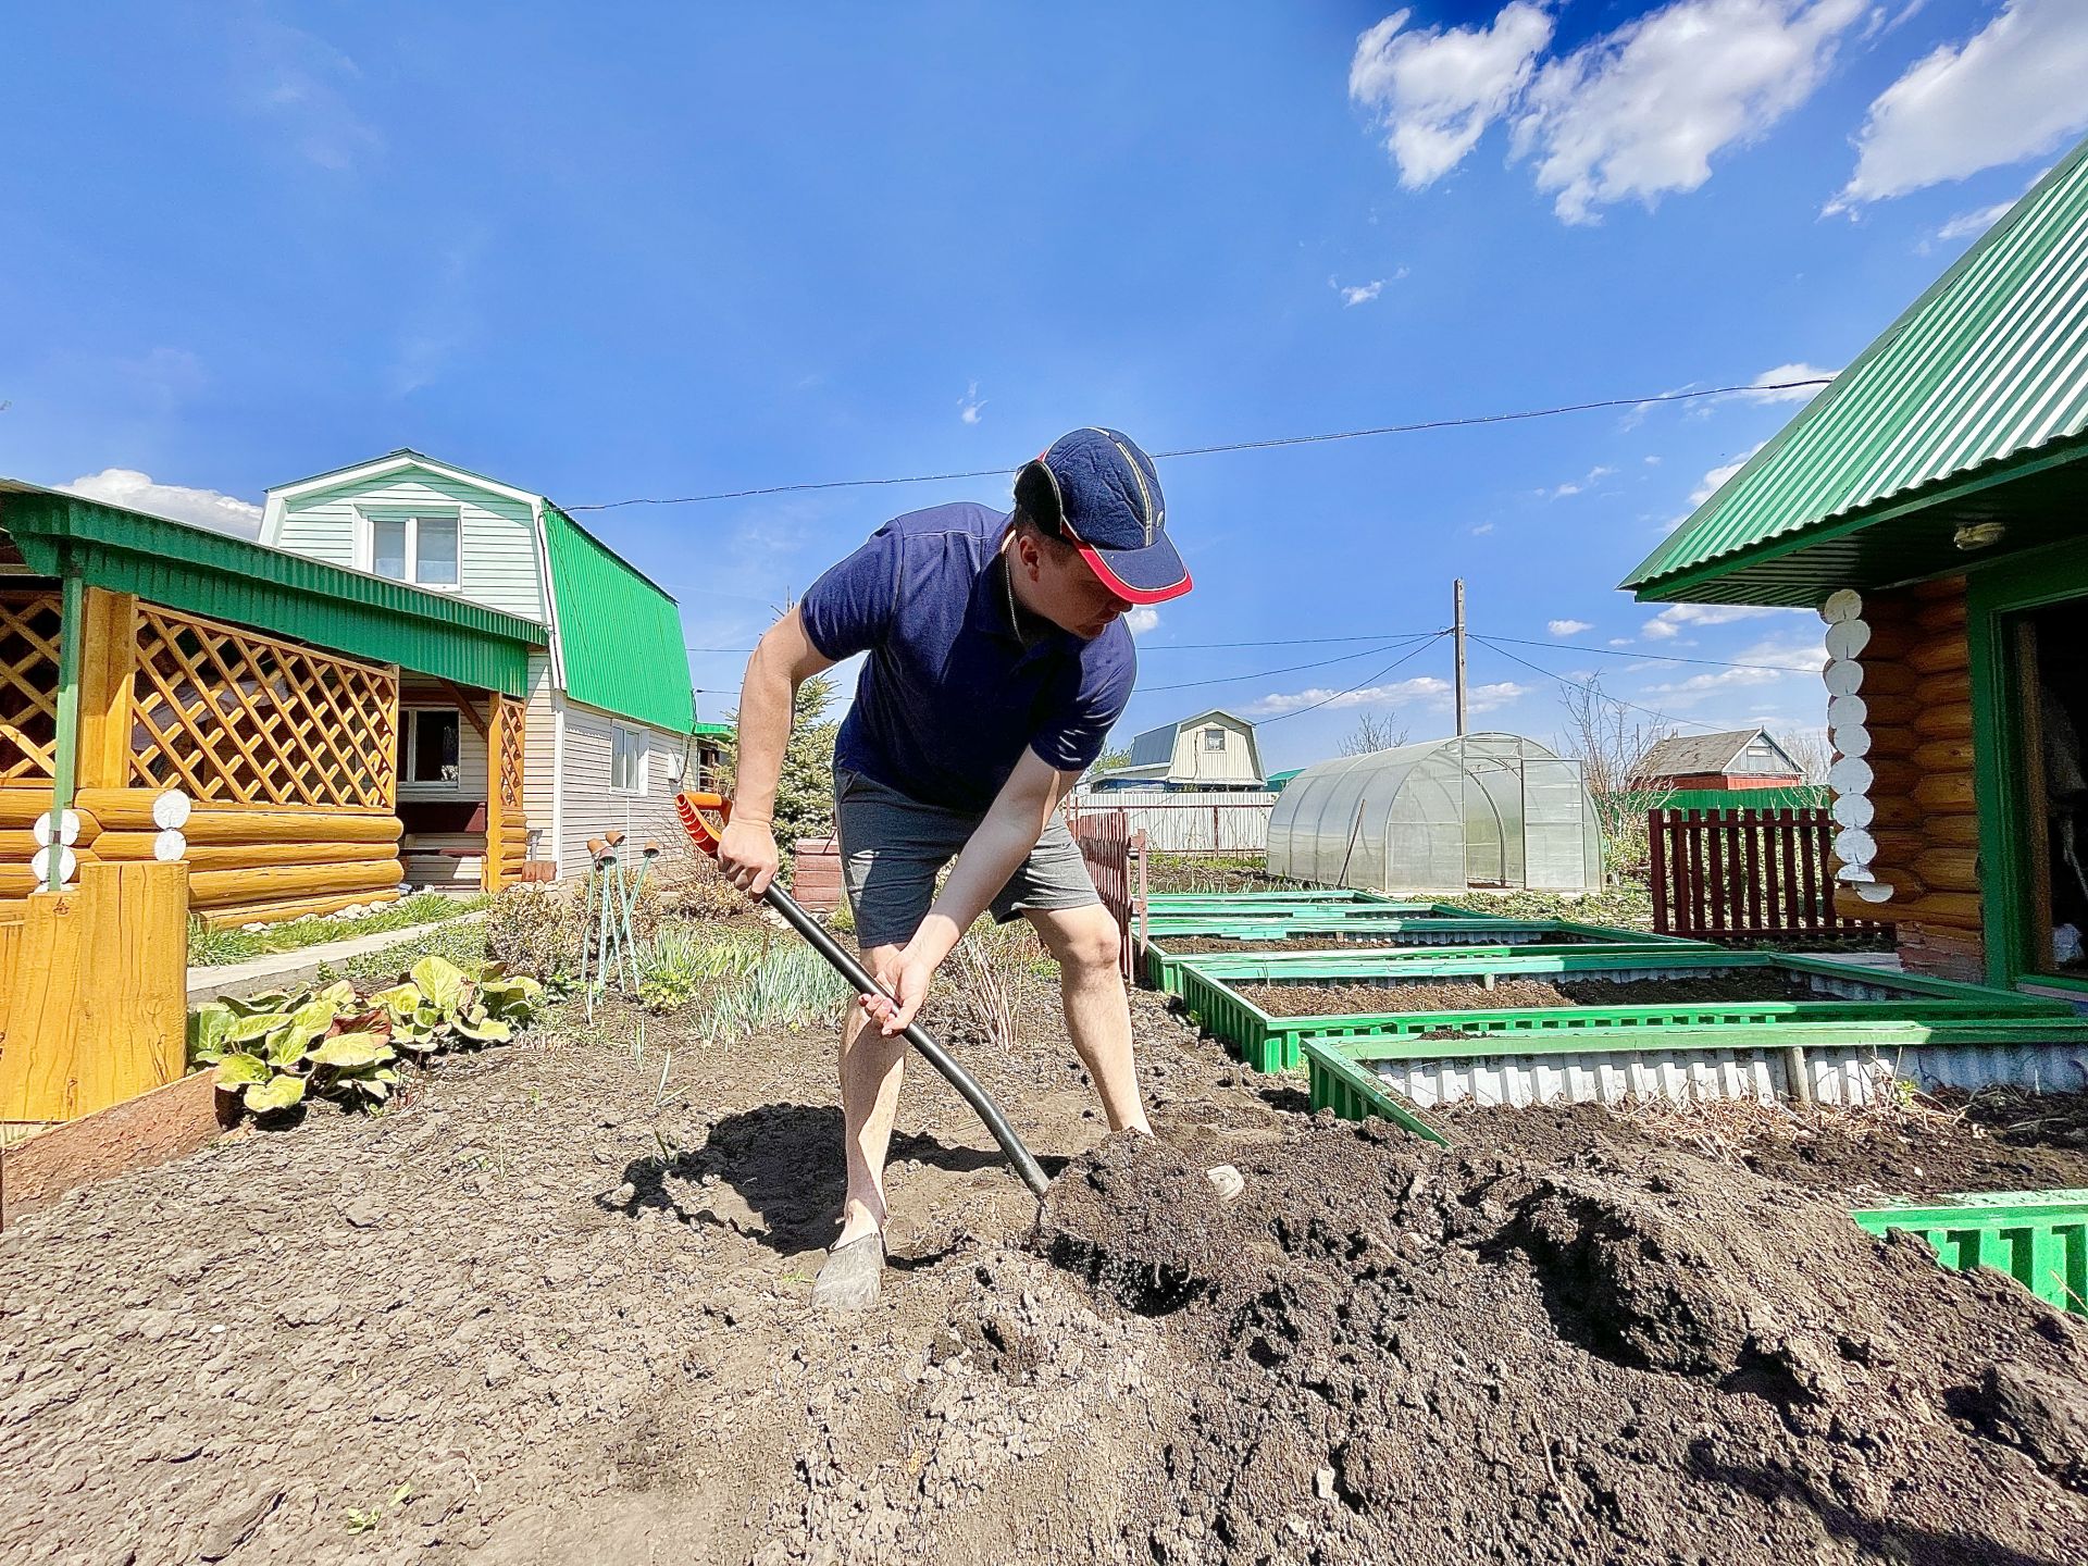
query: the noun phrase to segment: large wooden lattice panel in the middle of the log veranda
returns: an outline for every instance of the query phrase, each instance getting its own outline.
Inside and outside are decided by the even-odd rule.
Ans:
[[[390,810],[390,670],[138,606],[138,785],[221,804]]]

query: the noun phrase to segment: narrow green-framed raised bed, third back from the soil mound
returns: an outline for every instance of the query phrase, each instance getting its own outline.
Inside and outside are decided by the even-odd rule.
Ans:
[[[1386,919],[1351,917],[1261,921],[1194,921],[1155,919],[1146,927],[1146,983],[1155,990],[1182,994],[1182,965],[1209,956],[1292,956],[1297,952],[1378,950],[1401,952],[1407,958],[1445,956],[1512,956],[1520,950],[1572,948],[1585,952],[1662,952],[1708,950],[1702,942],[1679,935],[1652,935],[1641,929],[1581,925],[1568,919]]]

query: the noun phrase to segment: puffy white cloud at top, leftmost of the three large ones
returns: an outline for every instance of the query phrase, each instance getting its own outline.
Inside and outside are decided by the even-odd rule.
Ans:
[[[1551,42],[1551,17],[1526,0],[1503,6],[1491,27],[1405,31],[1395,10],[1355,42],[1349,98],[1376,113],[1399,184],[1420,190],[1464,161],[1531,79]]]

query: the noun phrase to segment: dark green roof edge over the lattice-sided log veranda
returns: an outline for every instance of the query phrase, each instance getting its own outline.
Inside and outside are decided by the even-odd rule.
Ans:
[[[113,593],[503,695],[528,695],[528,656],[547,643],[535,620],[447,593],[13,478],[0,528],[40,576],[71,560]]]

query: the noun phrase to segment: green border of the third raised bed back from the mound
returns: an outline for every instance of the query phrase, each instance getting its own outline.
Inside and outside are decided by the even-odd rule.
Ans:
[[[1326,946],[1315,952],[1169,952],[1165,938],[1219,938],[1219,940],[1288,940],[1295,935],[1324,935]],[[1167,996],[1182,994],[1182,969],[1224,956],[1253,956],[1261,963],[1309,963],[1324,954],[1343,954],[1349,942],[1382,940],[1384,935],[1424,935],[1403,946],[1370,946],[1374,956],[1399,958],[1403,963],[1430,956],[1514,956],[1531,950],[1562,950],[1579,954],[1627,956],[1633,952],[1672,950],[1718,950],[1708,942],[1683,935],[1654,935],[1643,929],[1622,929],[1616,925],[1583,925],[1572,919],[1345,919],[1340,923],[1320,921],[1176,921],[1155,919],[1146,929],[1144,977],[1153,990]],[[1432,940],[1441,935],[1466,935],[1468,940]],[[1531,935],[1533,940],[1489,940],[1489,935]]]

